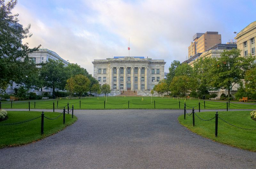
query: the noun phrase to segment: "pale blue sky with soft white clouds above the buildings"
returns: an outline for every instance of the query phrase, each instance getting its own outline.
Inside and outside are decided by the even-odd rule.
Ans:
[[[197,32],[222,43],[256,20],[255,0],[18,0],[12,13],[31,24],[23,43],[42,45],[93,74],[94,59],[130,56],[183,62]]]

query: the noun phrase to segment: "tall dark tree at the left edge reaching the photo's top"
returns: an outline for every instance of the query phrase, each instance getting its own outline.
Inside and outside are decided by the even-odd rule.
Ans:
[[[22,44],[21,40],[31,37],[30,25],[23,28],[18,24],[19,14],[12,14],[17,1],[7,3],[0,1],[0,88],[5,90],[10,81],[17,81],[21,76],[21,58],[27,57],[37,48],[29,49],[28,43]]]

